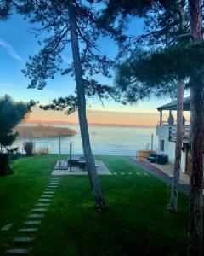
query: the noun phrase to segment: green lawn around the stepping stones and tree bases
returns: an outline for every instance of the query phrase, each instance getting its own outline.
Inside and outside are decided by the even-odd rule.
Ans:
[[[0,177],[0,254],[48,184],[57,156],[23,158],[13,164],[14,175]],[[54,200],[30,247],[30,255],[185,255],[188,198],[179,194],[179,212],[167,211],[169,187],[122,157],[97,157],[111,172],[140,172],[132,176],[100,177],[108,209],[96,212],[88,177],[62,177]]]

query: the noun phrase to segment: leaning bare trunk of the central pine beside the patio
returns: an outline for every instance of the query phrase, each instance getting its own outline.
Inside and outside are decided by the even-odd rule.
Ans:
[[[79,117],[79,124],[80,124],[81,137],[82,137],[82,148],[83,148],[84,157],[88,167],[88,177],[90,179],[96,208],[99,211],[103,211],[105,210],[105,201],[101,193],[101,189],[99,185],[99,177],[96,172],[94,157],[92,154],[90,141],[89,141],[88,121],[86,117],[86,98],[85,98],[85,91],[83,87],[82,64],[80,60],[78,36],[77,36],[77,21],[75,16],[75,9],[72,5],[69,6],[68,15],[69,15],[70,29],[71,29],[71,49],[72,49],[72,55],[74,60],[74,67],[75,67],[75,79],[77,83],[78,117]]]

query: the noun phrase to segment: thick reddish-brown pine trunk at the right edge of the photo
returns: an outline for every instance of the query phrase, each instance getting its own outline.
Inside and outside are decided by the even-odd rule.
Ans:
[[[201,0],[189,0],[190,32],[195,43],[201,41]],[[204,78],[203,75],[191,78],[190,88],[190,218],[189,247],[190,256],[203,255],[203,149],[204,149]]]

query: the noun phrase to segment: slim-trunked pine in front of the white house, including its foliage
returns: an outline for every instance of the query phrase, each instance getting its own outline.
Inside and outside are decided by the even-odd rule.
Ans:
[[[111,17],[108,19],[111,13]],[[107,20],[106,22],[110,26],[114,24],[114,19],[117,13],[122,13],[122,15],[127,16],[144,16],[144,23],[146,24],[145,29],[147,30],[141,36],[138,37],[127,37],[123,36],[123,41],[121,42],[120,37],[116,37],[116,40],[119,42],[119,45],[122,46],[122,52],[124,49],[129,50],[130,55],[133,55],[134,52],[137,53],[138,46],[148,45],[150,49],[158,48],[160,45],[162,48],[167,48],[172,44],[179,44],[181,38],[186,32],[187,22],[186,22],[186,5],[184,1],[154,1],[148,3],[148,1],[136,1],[132,3],[124,2],[113,2],[110,1],[107,4],[104,14],[102,15],[101,20]],[[122,17],[123,17],[122,16]],[[122,26],[118,28],[118,31],[122,30]],[[132,43],[129,43],[131,42]],[[136,49],[133,48],[136,47]],[[123,53],[122,53],[123,57]],[[130,73],[130,70],[127,70],[125,74],[122,71],[122,68],[119,68],[119,73],[117,73],[116,83],[122,90],[127,90],[127,86],[122,79],[123,75]],[[126,70],[126,69],[125,69]],[[120,78],[121,76],[121,78]],[[135,79],[137,80],[137,79]],[[164,83],[163,83],[164,85]],[[161,93],[161,90],[151,87],[150,90],[141,90],[139,83],[133,83],[133,80],[128,84],[130,93],[127,93],[127,101],[136,102],[139,98],[150,96],[156,91],[157,94]],[[138,88],[136,88],[138,87]],[[166,84],[166,92],[169,84]],[[174,90],[174,87],[173,87]],[[176,90],[176,89],[175,89]],[[182,148],[182,137],[183,137],[183,97],[184,97],[184,81],[178,81],[178,111],[177,111],[177,140],[176,140],[176,149],[175,149],[175,162],[173,168],[173,182],[171,190],[171,200],[169,208],[173,212],[178,210],[178,185],[179,185],[179,172],[180,172],[180,162],[181,162],[181,148]],[[164,90],[165,92],[165,90]],[[140,94],[140,95],[139,95]],[[165,93],[167,94],[167,93]]]

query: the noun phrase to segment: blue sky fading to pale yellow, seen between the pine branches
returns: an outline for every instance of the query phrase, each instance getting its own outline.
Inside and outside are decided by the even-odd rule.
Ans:
[[[0,96],[9,94],[16,101],[28,101],[30,99],[39,101],[41,104],[51,102],[52,99],[59,96],[67,96],[73,92],[75,88],[75,80],[70,76],[55,76],[54,80],[48,80],[48,85],[43,90],[27,89],[29,80],[26,79],[21,72],[26,67],[29,55],[37,54],[40,46],[37,44],[38,38],[35,38],[31,33],[31,25],[24,20],[22,16],[13,14],[9,20],[2,21],[0,26]],[[129,26],[129,32],[132,34],[140,34],[143,32],[143,22],[141,20],[132,20]],[[42,35],[43,36],[43,35]],[[116,55],[117,47],[110,38],[101,38],[99,40],[99,49],[105,55],[113,58]],[[71,61],[71,50],[67,50],[67,54],[62,55],[65,64]],[[102,76],[98,77],[99,82],[113,84],[113,79],[106,79]],[[101,105],[98,99],[88,100],[88,109],[92,111],[108,112],[109,119],[104,119],[108,124],[111,117],[116,116],[116,112],[123,112],[118,114],[117,123],[127,124],[125,115],[128,113],[146,113],[145,116],[150,118],[151,113],[157,113],[156,108],[169,102],[168,97],[150,98],[149,101],[138,102],[135,105],[124,106],[116,103],[113,100],[105,101],[104,106]],[[101,112],[102,111],[102,112]],[[93,113],[93,112],[89,112]],[[106,113],[106,115],[108,114]],[[148,114],[149,113],[149,114]],[[37,116],[38,114],[38,116]],[[61,113],[60,113],[61,114]],[[59,113],[52,112],[51,119],[57,119]],[[42,119],[46,113],[33,109],[30,119]],[[92,115],[88,115],[90,122],[95,123]],[[65,118],[65,115],[63,115]],[[130,122],[131,123],[131,122]],[[146,125],[146,121],[141,120],[141,124]],[[147,122],[148,123],[148,122]]]

